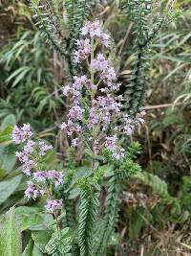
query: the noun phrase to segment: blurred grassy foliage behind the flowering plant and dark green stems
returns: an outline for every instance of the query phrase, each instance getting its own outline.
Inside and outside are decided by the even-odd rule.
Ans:
[[[91,2],[87,15],[103,20],[114,37],[110,58],[125,90],[134,65],[133,21],[118,1]],[[168,1],[160,2],[168,4]],[[56,146],[57,153],[47,157],[47,165],[51,168],[57,158],[63,159],[65,141],[56,127],[67,103],[63,102],[60,88],[70,80],[66,75],[68,67],[72,74],[76,70],[70,58],[66,57],[68,62],[60,58],[40,35],[28,1],[1,1],[0,7],[0,211],[4,214],[12,205],[20,206],[11,208],[6,217],[2,215],[2,220],[7,221],[1,223],[1,230],[7,230],[6,236],[10,237],[7,243],[13,243],[15,248],[15,254],[10,255],[19,255],[21,232],[25,237],[32,233],[32,239],[23,244],[23,247],[28,244],[23,255],[29,255],[28,250],[33,255],[43,255],[43,244],[51,234],[47,234],[45,241],[38,238],[39,232],[45,231],[48,217],[35,208],[38,204],[28,207],[31,203],[23,199],[26,182],[16,163],[9,134],[11,126],[29,122],[39,137],[46,136]],[[139,162],[143,172],[123,187],[120,222],[110,241],[108,255],[191,253],[188,246],[191,244],[191,3],[178,0],[174,8],[181,10],[178,20],[160,29],[152,41],[148,88],[143,102],[147,122],[132,138],[140,140]],[[75,29],[67,35],[69,56],[74,47],[72,35],[78,27]],[[22,220],[21,230],[16,228],[15,215]],[[18,238],[15,241],[9,235],[11,229]],[[67,232],[63,230],[65,239],[68,239]],[[4,245],[0,244],[0,249]]]

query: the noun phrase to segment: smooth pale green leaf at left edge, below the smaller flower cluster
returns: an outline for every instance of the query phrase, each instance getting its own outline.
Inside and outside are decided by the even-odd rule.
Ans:
[[[0,182],[0,203],[4,202],[16,190],[21,182],[22,175],[17,175]]]

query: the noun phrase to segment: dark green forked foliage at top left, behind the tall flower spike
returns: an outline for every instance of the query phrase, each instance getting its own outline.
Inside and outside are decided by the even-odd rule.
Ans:
[[[32,2],[32,10],[35,12],[34,18],[37,18],[36,25],[42,35],[45,35],[50,45],[65,59],[68,65],[69,80],[76,73],[76,67],[73,60],[75,43],[79,36],[80,29],[86,20],[88,13],[88,3],[85,0],[66,0],[60,10],[59,1],[36,1]],[[61,17],[65,14],[66,22]]]

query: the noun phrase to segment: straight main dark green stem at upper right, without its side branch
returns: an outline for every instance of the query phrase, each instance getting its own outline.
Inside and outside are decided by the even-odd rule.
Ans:
[[[131,19],[135,24],[134,60],[130,81],[126,85],[126,108],[135,115],[141,105],[146,89],[146,70],[148,67],[148,35],[151,1],[129,1]]]

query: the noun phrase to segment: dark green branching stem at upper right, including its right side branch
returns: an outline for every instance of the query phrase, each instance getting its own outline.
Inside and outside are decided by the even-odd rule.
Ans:
[[[158,35],[162,26],[177,18],[178,12],[165,15],[155,12],[151,0],[122,1],[123,10],[130,14],[134,22],[133,61],[131,62],[131,76],[126,84],[125,109],[130,115],[135,115],[142,104],[147,89],[147,71],[149,66],[149,50],[152,40]],[[156,15],[153,18],[152,15]]]

